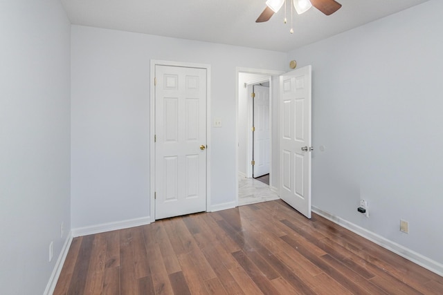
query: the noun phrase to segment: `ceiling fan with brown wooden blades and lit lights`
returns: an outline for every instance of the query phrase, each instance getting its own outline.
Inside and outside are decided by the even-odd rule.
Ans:
[[[262,14],[255,21],[256,23],[262,23],[269,21],[274,13],[278,12],[283,6],[285,0],[267,0],[266,8],[264,8]],[[341,8],[341,4],[335,0],[293,0],[293,6],[299,15],[306,12],[314,6],[325,15],[332,15],[338,9]]]

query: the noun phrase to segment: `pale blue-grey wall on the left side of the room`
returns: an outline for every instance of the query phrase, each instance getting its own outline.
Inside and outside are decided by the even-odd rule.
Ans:
[[[70,32],[60,1],[0,1],[0,294],[43,294],[69,236]]]

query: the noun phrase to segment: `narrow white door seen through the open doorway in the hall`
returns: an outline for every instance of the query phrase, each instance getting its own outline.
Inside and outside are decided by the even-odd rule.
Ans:
[[[253,98],[253,177],[269,174],[271,129],[269,125],[269,87],[254,85]]]

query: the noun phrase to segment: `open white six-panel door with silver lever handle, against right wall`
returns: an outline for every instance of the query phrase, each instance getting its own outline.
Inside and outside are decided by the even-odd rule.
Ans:
[[[280,198],[311,218],[311,66],[280,75]]]

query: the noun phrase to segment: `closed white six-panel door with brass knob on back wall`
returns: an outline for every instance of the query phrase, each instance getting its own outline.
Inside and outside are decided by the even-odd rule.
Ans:
[[[206,211],[206,69],[155,77],[155,219]]]

